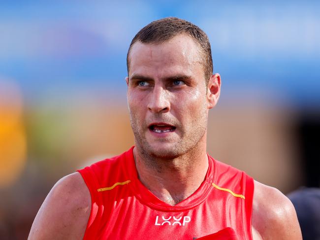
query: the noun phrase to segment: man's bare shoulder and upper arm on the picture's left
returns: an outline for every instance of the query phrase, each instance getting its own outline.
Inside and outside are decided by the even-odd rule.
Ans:
[[[28,239],[83,239],[90,211],[91,196],[82,176],[67,175],[44,200]]]

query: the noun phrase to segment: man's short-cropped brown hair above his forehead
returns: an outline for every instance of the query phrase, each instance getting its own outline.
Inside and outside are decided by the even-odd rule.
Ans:
[[[202,67],[206,84],[212,75],[213,65],[211,46],[207,34],[194,24],[175,17],[162,18],[149,23],[141,29],[132,39],[127,54],[127,69],[129,74],[129,53],[132,45],[139,41],[141,43],[162,43],[172,39],[179,34],[187,34],[199,44],[202,54]]]

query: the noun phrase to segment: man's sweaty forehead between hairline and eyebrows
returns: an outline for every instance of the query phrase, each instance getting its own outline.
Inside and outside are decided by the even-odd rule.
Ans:
[[[186,35],[178,35],[161,43],[136,42],[129,53],[129,75],[132,71],[151,69],[194,71],[201,67],[200,64],[199,46]]]

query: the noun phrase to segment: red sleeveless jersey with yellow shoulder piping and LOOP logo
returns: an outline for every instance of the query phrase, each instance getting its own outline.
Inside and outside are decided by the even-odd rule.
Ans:
[[[253,178],[208,156],[205,180],[175,206],[138,179],[133,147],[79,170],[91,194],[85,240],[252,240]]]

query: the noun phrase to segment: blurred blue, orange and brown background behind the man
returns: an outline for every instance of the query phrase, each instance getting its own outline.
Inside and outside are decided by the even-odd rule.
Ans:
[[[61,177],[134,144],[128,46],[167,16],[208,34],[222,76],[209,154],[285,194],[319,187],[319,1],[0,1],[1,240],[27,238]]]

